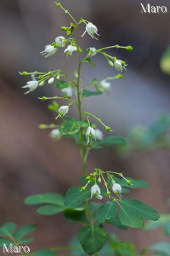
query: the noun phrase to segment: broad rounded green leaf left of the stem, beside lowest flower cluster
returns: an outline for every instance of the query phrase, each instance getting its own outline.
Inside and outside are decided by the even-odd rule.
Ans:
[[[67,208],[75,208],[91,198],[90,188],[80,191],[81,186],[70,188],[64,198],[64,206]]]

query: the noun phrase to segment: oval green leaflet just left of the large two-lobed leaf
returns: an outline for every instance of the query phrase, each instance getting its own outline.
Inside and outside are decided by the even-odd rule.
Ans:
[[[108,201],[100,206],[96,213],[96,219],[99,222],[105,222],[111,218],[114,218],[117,214],[117,204],[116,202]]]

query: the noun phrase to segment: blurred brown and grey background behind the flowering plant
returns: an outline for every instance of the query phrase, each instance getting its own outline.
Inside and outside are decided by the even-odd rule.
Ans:
[[[112,82],[109,96],[87,98],[83,109],[91,110],[103,119],[113,128],[114,135],[124,137],[135,125],[150,125],[158,114],[168,113],[169,76],[160,70],[159,62],[170,44],[169,0],[149,1],[150,5],[166,6],[166,14],[141,14],[140,1],[136,0],[63,0],[61,3],[77,20],[83,17],[99,29],[100,37],[95,41],[87,34],[81,37],[85,29],[81,26],[79,42],[84,50],[89,46],[99,48],[115,44],[134,48],[132,52],[108,51],[126,61],[128,70],[123,79]],[[142,3],[147,5],[148,2],[143,0]],[[47,110],[49,102],[37,99],[43,95],[56,95],[56,86],[45,85],[24,95],[21,86],[30,81],[30,77],[22,77],[18,72],[62,68],[73,76],[76,54],[66,58],[64,49],[47,59],[39,54],[45,45],[54,42],[56,36],[64,35],[60,27],[68,26],[71,20],[52,0],[1,0],[0,21],[0,225],[6,221],[14,221],[19,226],[38,223],[35,242],[30,244],[31,251],[62,246],[76,234],[79,225],[75,228],[75,223],[66,222],[62,214],[39,215],[35,207],[24,205],[23,199],[47,191],[64,195],[71,186],[79,185],[79,149],[70,139],[54,142],[49,131],[38,129],[40,123],[60,122],[55,121],[55,115]],[[92,61],[97,64],[96,68],[84,63],[84,84],[94,77],[104,79],[117,74],[102,56],[97,55]],[[69,116],[77,114],[72,106]],[[103,130],[103,127],[99,126],[99,129]],[[134,150],[124,159],[117,155],[115,148],[96,150],[89,156],[87,172],[101,165],[104,170],[112,169],[123,172],[126,177],[145,179],[150,187],[135,190],[135,194],[132,191],[132,198],[165,213],[168,211],[166,199],[170,196],[169,159],[168,149],[152,148],[142,153]],[[110,231],[125,241],[134,242],[139,250],[163,239],[159,231],[151,235],[132,228],[129,231],[110,228]],[[59,255],[69,254],[62,252]]]

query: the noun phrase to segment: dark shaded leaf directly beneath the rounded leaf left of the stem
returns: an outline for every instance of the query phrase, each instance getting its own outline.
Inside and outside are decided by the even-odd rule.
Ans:
[[[88,219],[82,209],[65,209],[64,217],[66,220],[73,222],[88,223]]]

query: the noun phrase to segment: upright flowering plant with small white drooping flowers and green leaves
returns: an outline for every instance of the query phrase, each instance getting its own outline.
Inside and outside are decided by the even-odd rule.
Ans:
[[[115,253],[112,247],[112,236],[104,228],[104,223],[126,229],[126,227],[142,228],[144,219],[158,220],[159,214],[152,207],[135,199],[124,199],[123,194],[130,193],[129,189],[140,187],[148,187],[146,181],[134,180],[125,178],[122,173],[117,173],[114,170],[105,171],[98,167],[91,170],[90,173],[86,170],[86,163],[90,150],[100,149],[104,146],[111,145],[126,145],[126,142],[121,137],[109,136],[104,138],[103,133],[91,123],[92,118],[97,119],[99,125],[103,125],[108,133],[112,133],[111,127],[107,126],[101,119],[89,111],[82,109],[82,101],[87,97],[101,95],[111,90],[111,82],[114,79],[123,77],[122,73],[126,70],[126,62],[117,59],[115,56],[106,53],[107,49],[125,49],[132,51],[132,46],[113,45],[96,49],[89,47],[86,56],[81,59],[82,49],[79,45],[78,28],[80,25],[86,26],[82,36],[87,32],[91,38],[98,39],[98,29],[91,22],[81,18],[78,22],[72,17],[69,11],[65,10],[61,3],[56,3],[57,7],[61,8],[71,18],[68,27],[61,27],[66,35],[57,36],[55,42],[45,46],[45,50],[40,52],[44,58],[49,58],[56,54],[60,48],[64,47],[64,53],[68,58],[72,54],[78,55],[78,69],[75,69],[75,78],[69,77],[62,69],[31,73],[23,71],[20,74],[23,76],[31,75],[32,81],[28,82],[23,88],[28,87],[29,92],[33,92],[37,87],[41,87],[47,82],[48,84],[56,83],[57,93],[53,97],[40,97],[42,101],[53,100],[52,109],[57,109],[57,118],[61,118],[63,123],[58,124],[41,124],[40,129],[51,128],[51,136],[54,140],[60,140],[62,137],[68,137],[78,143],[82,160],[82,177],[80,178],[81,186],[71,187],[65,197],[56,193],[45,193],[41,195],[31,195],[25,198],[25,203],[29,205],[45,204],[37,209],[37,212],[44,215],[53,215],[59,212],[64,212],[64,217],[69,221],[77,221],[82,223],[82,227],[78,231],[78,238],[84,253],[88,255],[98,255],[97,253],[108,242],[110,244],[110,252]],[[74,34],[73,34],[74,33]],[[87,35],[86,34],[86,35]],[[74,36],[75,35],[75,36]],[[71,37],[70,37],[71,36]],[[75,53],[74,53],[75,52]],[[94,79],[90,84],[83,85],[81,80],[81,68],[84,62],[88,62],[91,66],[96,66],[91,62],[91,58],[96,54],[102,54],[107,60],[109,67],[121,71],[115,76],[106,77],[101,81]],[[63,80],[64,78],[64,80]],[[94,90],[88,90],[91,87]],[[76,98],[73,96],[75,94]],[[73,98],[72,98],[73,97]],[[58,105],[58,100],[65,100],[65,105]],[[79,111],[79,119],[69,117],[70,107],[74,104]],[[84,119],[83,119],[84,118]],[[57,121],[56,121],[57,122]],[[106,198],[105,202],[103,199]],[[92,206],[91,201],[96,201],[97,204]],[[118,210],[119,209],[119,210]],[[14,244],[20,245],[31,242],[24,240],[23,237],[33,231],[35,225],[26,225],[13,235],[15,224],[9,222],[6,226],[1,227],[0,235],[10,234],[10,239]],[[6,230],[6,231],[4,231]],[[9,241],[8,241],[9,242]],[[69,247],[70,248],[70,247]],[[67,249],[67,247],[65,247]],[[53,248],[48,250],[40,250],[31,253],[33,256],[56,255],[59,249]],[[130,254],[116,254],[130,255]],[[134,255],[134,254],[133,254]]]

